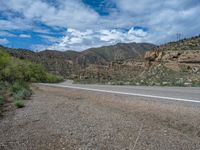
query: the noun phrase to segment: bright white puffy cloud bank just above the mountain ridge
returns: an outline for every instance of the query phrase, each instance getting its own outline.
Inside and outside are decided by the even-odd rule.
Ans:
[[[68,29],[66,36],[60,43],[54,44],[49,49],[58,50],[85,50],[90,47],[100,47],[116,43],[142,42],[147,37],[147,32],[142,29],[131,28],[128,31],[113,30],[86,30]]]

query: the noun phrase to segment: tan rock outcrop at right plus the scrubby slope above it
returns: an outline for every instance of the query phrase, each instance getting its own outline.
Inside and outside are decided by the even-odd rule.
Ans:
[[[161,45],[144,56],[149,65],[163,64],[174,71],[200,71],[200,36]],[[196,68],[197,66],[197,68]],[[190,70],[191,69],[191,70]]]

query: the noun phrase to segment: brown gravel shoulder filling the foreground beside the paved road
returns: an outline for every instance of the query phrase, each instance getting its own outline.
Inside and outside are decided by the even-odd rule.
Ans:
[[[200,105],[34,85],[0,119],[0,150],[199,150]]]

